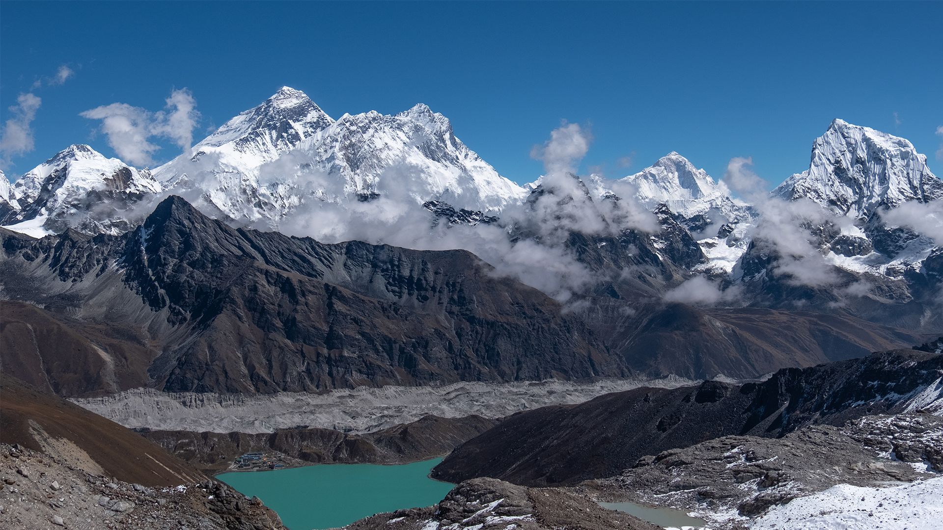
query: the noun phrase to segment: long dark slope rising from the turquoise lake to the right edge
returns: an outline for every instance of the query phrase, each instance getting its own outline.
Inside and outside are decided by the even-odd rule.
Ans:
[[[814,368],[786,369],[762,383],[708,381],[635,389],[577,406],[521,412],[459,446],[433,476],[491,476],[523,485],[612,476],[643,455],[724,435],[778,438],[811,423],[842,424],[938,398],[943,356],[898,350]],[[934,393],[936,392],[936,393]],[[936,395],[929,399],[927,396]]]

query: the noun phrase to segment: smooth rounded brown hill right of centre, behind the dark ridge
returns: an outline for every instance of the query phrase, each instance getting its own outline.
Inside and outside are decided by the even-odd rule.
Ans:
[[[899,348],[912,333],[848,315],[763,307],[595,300],[587,323],[629,368],[652,376],[753,378]]]

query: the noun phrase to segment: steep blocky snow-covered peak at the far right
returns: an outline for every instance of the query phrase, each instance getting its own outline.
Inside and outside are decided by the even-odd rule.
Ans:
[[[836,119],[813,143],[809,169],[772,194],[807,197],[839,215],[866,219],[879,207],[943,199],[943,182],[910,141]]]

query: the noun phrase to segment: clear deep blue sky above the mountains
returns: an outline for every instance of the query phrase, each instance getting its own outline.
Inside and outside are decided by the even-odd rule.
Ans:
[[[835,117],[913,141],[943,173],[943,2],[0,3],[0,122],[41,98],[35,149],[8,174],[70,143],[113,156],[90,108],[157,111],[186,87],[199,140],[282,85],[334,117],[426,103],[518,182],[561,120],[589,126],[582,169],[610,177],[674,150],[718,178],[753,157],[772,186]],[[179,152],[161,146],[157,161]]]

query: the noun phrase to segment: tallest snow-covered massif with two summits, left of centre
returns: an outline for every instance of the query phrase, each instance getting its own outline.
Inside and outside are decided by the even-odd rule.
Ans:
[[[277,227],[303,203],[394,196],[488,210],[524,191],[455,138],[425,105],[337,122],[302,91],[283,87],[154,172],[210,215]]]

